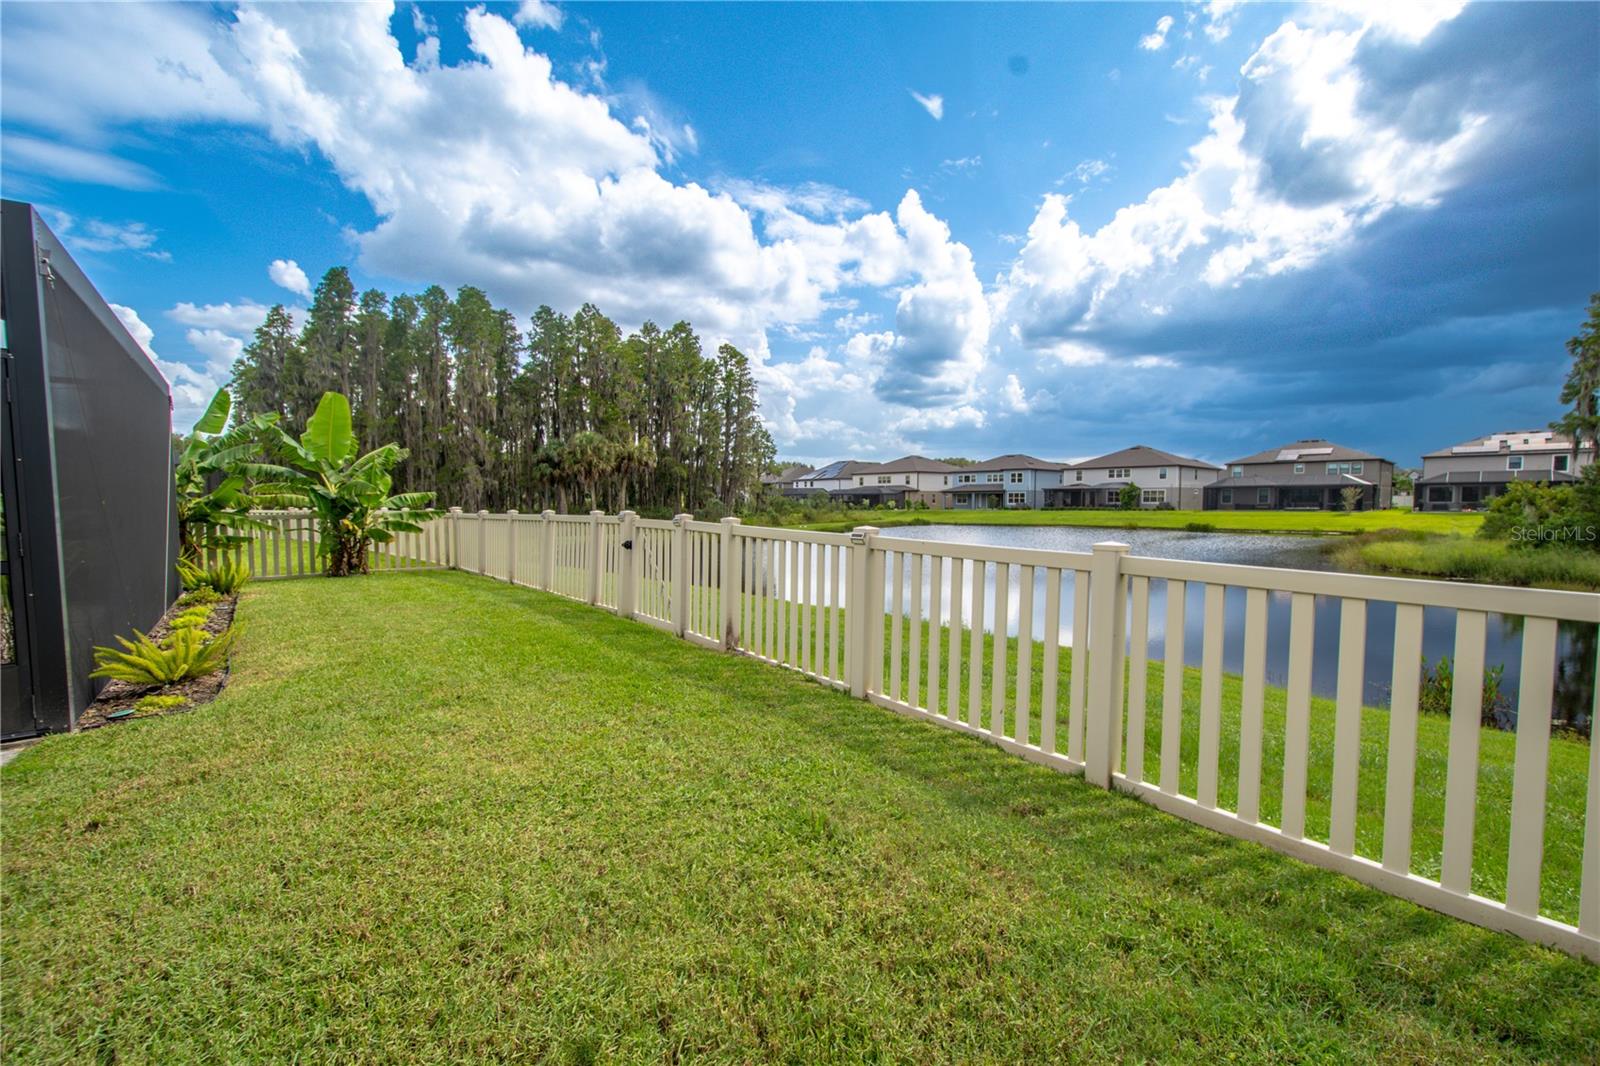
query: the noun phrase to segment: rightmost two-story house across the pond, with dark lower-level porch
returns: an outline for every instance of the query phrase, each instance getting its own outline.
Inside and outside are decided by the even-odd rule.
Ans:
[[[1512,482],[1562,485],[1594,461],[1594,447],[1586,443],[1574,463],[1571,439],[1549,429],[1507,429],[1424,455],[1413,506],[1478,511]]]

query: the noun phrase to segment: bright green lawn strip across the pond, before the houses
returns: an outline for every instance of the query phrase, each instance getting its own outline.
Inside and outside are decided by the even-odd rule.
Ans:
[[[746,519],[760,525],[782,525],[762,515]],[[1470,536],[1483,515],[1421,511],[890,511],[861,509],[819,512],[789,520],[808,530],[845,531],[858,525],[1090,525],[1106,528],[1182,530],[1203,523],[1224,533],[1370,533],[1373,530],[1414,530]]]

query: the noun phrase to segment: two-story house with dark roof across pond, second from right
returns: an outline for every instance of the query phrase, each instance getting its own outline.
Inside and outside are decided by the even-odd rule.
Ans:
[[[1355,488],[1355,509],[1389,509],[1395,464],[1331,440],[1296,440],[1227,464],[1205,487],[1206,511],[1342,511]]]

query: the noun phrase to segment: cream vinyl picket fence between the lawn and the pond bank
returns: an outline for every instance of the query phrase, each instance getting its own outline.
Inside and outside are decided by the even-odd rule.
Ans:
[[[270,520],[259,538],[270,543],[253,546],[262,559],[293,559],[298,552],[285,546],[314,536],[304,517]],[[808,533],[598,511],[453,509],[382,559],[392,563],[386,568],[454,567],[546,589],[787,666],[1179,818],[1600,960],[1600,744],[1586,746],[1574,776],[1574,743],[1562,741],[1565,791],[1550,789],[1558,626],[1600,624],[1595,594],[1144,559],[1115,543],[1054,552],[880,538],[872,527]],[[1152,583],[1165,584],[1165,627],[1152,619]],[[1245,599],[1240,677],[1222,671],[1229,587]],[[1198,679],[1184,666],[1189,597],[1203,603]],[[1282,690],[1266,682],[1269,597],[1290,600],[1288,632],[1274,635],[1288,642]],[[1338,602],[1339,640],[1331,755],[1312,765],[1317,597]],[[845,610],[856,603],[864,608]],[[1395,615],[1387,712],[1362,706],[1370,605]],[[1438,743],[1419,746],[1426,610],[1454,615],[1454,688],[1448,728],[1430,725],[1427,736]],[[1522,626],[1509,768],[1480,762],[1493,616]],[[1152,621],[1165,634],[1160,667],[1147,661]],[[1195,680],[1197,698],[1186,699]],[[1600,709],[1592,693],[1586,701]],[[1197,744],[1186,751],[1184,719],[1195,712],[1187,725]],[[1378,765],[1382,773],[1373,771],[1363,791],[1363,767]],[[1443,815],[1432,824],[1414,816],[1418,789],[1434,787],[1432,778],[1418,779],[1419,767],[1443,776]],[[1437,799],[1429,804],[1437,810]],[[1560,877],[1546,845],[1552,820],[1566,848],[1557,856]],[[1542,906],[1547,887],[1563,893],[1560,906]]]

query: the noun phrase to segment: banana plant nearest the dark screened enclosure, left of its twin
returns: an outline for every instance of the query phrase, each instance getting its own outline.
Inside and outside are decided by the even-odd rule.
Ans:
[[[251,530],[264,528],[250,517],[254,501],[245,467],[278,416],[258,415],[224,432],[230,408],[227,389],[218,389],[173,467],[179,552],[189,562],[202,560],[206,551],[238,547]]]

